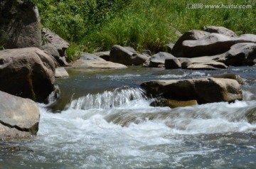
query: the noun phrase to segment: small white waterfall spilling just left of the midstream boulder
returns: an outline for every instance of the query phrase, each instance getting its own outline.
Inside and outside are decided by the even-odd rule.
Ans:
[[[87,94],[71,102],[72,109],[110,109],[129,105],[134,100],[146,99],[145,91],[141,88],[119,87],[114,91],[98,94]]]

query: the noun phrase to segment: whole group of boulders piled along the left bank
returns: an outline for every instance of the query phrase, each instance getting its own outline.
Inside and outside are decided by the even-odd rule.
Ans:
[[[23,0],[0,2],[0,38],[1,139],[35,135],[40,116],[36,102],[47,102],[55,74],[67,76],[58,67],[68,66],[69,44],[42,30],[36,5]]]

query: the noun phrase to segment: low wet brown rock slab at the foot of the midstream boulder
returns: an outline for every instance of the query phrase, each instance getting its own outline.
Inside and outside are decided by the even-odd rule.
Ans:
[[[196,100],[187,100],[187,101],[178,101],[178,100],[171,100],[171,99],[157,99],[154,102],[151,102],[149,104],[151,107],[170,107],[171,109],[174,109],[176,107],[188,107],[197,105],[198,102]]]

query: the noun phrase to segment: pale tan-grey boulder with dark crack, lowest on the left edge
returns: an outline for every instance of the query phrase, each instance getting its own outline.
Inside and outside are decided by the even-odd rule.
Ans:
[[[2,140],[36,135],[39,117],[37,104],[31,99],[23,99],[0,91],[0,138]]]

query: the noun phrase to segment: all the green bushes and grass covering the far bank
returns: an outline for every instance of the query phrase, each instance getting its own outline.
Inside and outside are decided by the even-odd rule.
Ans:
[[[110,50],[127,45],[156,53],[184,33],[203,26],[225,26],[238,34],[255,33],[255,0],[33,0],[43,26],[50,28],[75,50]],[[188,4],[250,4],[251,9],[188,9]],[[78,45],[79,44],[79,45]],[[81,48],[81,46],[83,46]]]

